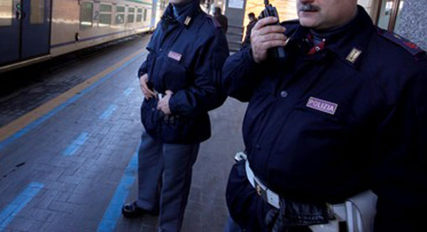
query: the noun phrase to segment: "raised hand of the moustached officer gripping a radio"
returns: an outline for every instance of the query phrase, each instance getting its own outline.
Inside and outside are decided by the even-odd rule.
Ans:
[[[252,56],[255,62],[259,63],[267,59],[267,50],[269,48],[285,46],[286,35],[283,34],[286,28],[280,25],[271,25],[278,21],[278,18],[267,17],[260,19],[251,32]]]

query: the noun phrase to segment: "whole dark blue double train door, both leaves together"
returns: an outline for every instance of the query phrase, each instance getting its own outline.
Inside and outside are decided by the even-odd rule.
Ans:
[[[46,55],[51,0],[0,0],[0,65]]]

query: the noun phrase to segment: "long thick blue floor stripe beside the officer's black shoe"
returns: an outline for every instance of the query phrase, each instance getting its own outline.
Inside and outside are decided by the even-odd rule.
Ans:
[[[129,194],[130,188],[135,181],[135,174],[137,172],[137,153],[132,156],[129,164],[126,167],[125,173],[120,179],[120,183],[110,201],[110,205],[102,217],[102,221],[97,227],[98,232],[111,232],[114,231],[117,226],[117,221],[120,219],[122,214],[122,206],[125,204],[127,194]]]

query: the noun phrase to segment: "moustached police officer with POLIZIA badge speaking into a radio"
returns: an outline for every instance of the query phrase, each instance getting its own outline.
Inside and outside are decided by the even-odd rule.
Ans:
[[[228,94],[249,101],[247,161],[228,179],[233,221],[246,231],[325,223],[325,203],[372,189],[375,231],[423,231],[426,53],[374,26],[357,0],[298,0],[297,13],[258,21],[251,47],[223,67]],[[277,46],[285,57],[271,55]]]

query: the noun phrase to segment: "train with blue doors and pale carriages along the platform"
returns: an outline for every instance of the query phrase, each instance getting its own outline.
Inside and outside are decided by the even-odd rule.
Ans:
[[[0,0],[0,72],[154,30],[167,0]]]

